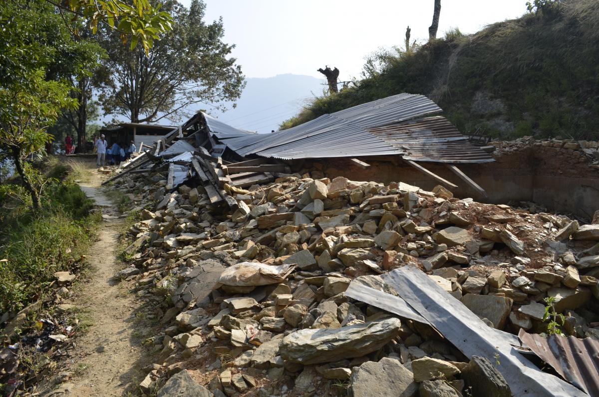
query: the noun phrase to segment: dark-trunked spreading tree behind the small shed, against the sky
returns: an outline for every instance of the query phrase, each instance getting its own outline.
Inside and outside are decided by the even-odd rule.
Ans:
[[[189,9],[169,1],[165,9],[173,14],[173,31],[147,52],[128,51],[114,35],[105,34],[107,78],[99,98],[105,113],[156,122],[188,116],[189,106],[196,103],[240,96],[244,77],[229,56],[234,46],[222,41],[222,19],[205,23],[201,0],[192,0]]]

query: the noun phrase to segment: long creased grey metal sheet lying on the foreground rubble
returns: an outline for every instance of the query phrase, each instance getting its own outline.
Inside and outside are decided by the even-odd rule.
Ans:
[[[537,368],[513,347],[519,345],[516,335],[489,327],[418,267],[404,266],[381,278],[465,356],[492,359],[498,354],[497,369],[514,396],[587,396],[570,383]]]

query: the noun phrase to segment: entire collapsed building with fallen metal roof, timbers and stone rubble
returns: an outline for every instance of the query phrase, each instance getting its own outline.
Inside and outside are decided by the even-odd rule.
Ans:
[[[599,216],[457,198],[430,164],[484,196],[463,169],[494,158],[439,111],[401,94],[265,135],[198,113],[108,179],[143,218],[119,277],[164,324],[142,389],[597,395]],[[389,158],[433,186],[322,165]]]

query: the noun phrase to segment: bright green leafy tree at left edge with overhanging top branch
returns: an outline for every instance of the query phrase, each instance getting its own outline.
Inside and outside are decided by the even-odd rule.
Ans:
[[[171,29],[170,14],[148,0],[0,2],[0,152],[10,155],[34,209],[44,181],[26,160],[52,141],[47,127],[61,109],[77,108],[67,76],[89,77],[98,54],[97,46],[79,40],[78,26],[87,24],[95,33],[99,22],[117,30],[123,44],[130,38],[130,48],[141,42],[145,51]]]

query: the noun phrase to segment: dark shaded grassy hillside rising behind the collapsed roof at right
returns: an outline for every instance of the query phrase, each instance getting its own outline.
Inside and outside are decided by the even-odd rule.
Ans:
[[[466,134],[597,137],[599,2],[550,2],[473,35],[450,32],[389,59],[380,73],[317,98],[289,128],[400,92],[424,94]]]

